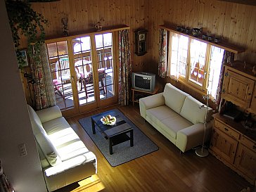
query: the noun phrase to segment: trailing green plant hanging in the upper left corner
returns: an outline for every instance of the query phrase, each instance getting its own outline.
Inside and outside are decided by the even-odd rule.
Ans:
[[[41,44],[44,43],[44,25],[48,25],[48,21],[43,15],[32,9],[29,1],[6,0],[6,10],[19,68],[22,69],[25,65],[25,60],[20,50],[20,35],[23,34],[27,38],[28,55],[36,62],[39,62],[37,52]]]

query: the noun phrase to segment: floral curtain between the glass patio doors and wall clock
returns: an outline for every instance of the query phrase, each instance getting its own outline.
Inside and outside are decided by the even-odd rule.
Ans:
[[[122,30],[118,32],[119,43],[119,104],[128,105],[130,98],[131,82],[131,53],[129,47],[129,31]]]

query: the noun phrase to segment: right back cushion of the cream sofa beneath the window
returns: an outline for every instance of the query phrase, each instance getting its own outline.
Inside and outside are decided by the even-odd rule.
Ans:
[[[193,124],[199,122],[204,123],[206,108],[200,108],[202,105],[203,103],[196,100],[196,98],[186,96],[180,115],[186,118],[188,121],[193,122]],[[212,108],[208,108],[207,113],[212,114]]]

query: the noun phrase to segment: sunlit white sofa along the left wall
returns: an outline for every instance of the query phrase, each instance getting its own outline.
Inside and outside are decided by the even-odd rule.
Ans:
[[[49,191],[90,177],[97,160],[62,116],[58,106],[35,112],[27,105]]]

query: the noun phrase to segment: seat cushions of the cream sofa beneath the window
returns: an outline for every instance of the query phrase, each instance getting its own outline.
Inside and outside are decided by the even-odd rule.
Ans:
[[[189,127],[192,124],[166,105],[146,110],[146,116],[174,139],[176,139],[179,130]]]

